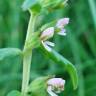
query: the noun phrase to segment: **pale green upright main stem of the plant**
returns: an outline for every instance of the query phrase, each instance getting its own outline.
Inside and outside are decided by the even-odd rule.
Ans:
[[[24,50],[23,50],[25,53],[23,58],[23,80],[22,80],[23,96],[26,96],[26,91],[27,91],[29,80],[30,80],[30,67],[31,67],[31,58],[32,58],[32,50],[30,51],[26,50],[27,49],[26,43],[30,38],[32,38],[31,34],[34,32],[34,29],[35,29],[35,21],[36,21],[36,16],[31,14],[28,30],[27,30],[26,41],[25,41]]]

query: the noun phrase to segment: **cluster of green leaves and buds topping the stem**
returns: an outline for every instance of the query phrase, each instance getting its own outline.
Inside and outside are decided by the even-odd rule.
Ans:
[[[24,11],[30,9],[32,12],[40,13],[44,10],[53,10],[58,9],[62,6],[64,0],[25,0],[22,9]],[[64,7],[64,5],[63,5]],[[45,12],[45,11],[44,11]]]

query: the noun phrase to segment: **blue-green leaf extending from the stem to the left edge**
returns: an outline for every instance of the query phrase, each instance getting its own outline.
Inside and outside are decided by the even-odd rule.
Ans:
[[[2,48],[0,49],[0,61],[15,56],[21,56],[22,52],[18,48]]]

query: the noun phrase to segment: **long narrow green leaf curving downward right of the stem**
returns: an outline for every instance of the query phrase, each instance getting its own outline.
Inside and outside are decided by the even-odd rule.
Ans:
[[[55,50],[52,50],[51,52],[49,52],[42,45],[40,49],[42,53],[45,54],[45,56],[49,57],[57,64],[61,64],[61,66],[63,66],[67,70],[67,72],[71,77],[73,88],[76,89],[78,86],[78,76],[77,76],[77,70],[75,66],[71,62],[69,62],[67,59],[65,59],[62,55],[57,53]]]

